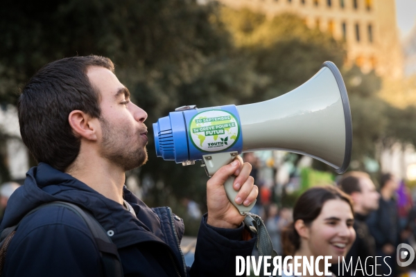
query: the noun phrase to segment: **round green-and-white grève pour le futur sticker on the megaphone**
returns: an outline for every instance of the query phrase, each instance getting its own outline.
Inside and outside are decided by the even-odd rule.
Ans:
[[[240,136],[239,120],[221,109],[196,114],[189,123],[192,144],[205,152],[218,152],[231,148]]]

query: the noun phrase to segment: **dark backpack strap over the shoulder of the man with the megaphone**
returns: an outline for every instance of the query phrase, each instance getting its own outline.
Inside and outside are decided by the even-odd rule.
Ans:
[[[87,224],[89,231],[91,231],[92,236],[94,237],[94,240],[98,247],[98,250],[100,251],[101,265],[103,265],[104,276],[123,276],[123,267],[121,266],[119,251],[117,251],[116,244],[112,242],[111,238],[103,229],[103,226],[101,226],[101,224],[99,224],[90,213],[84,211],[82,208],[67,202],[51,202],[38,206],[37,208],[27,213],[24,217],[27,217],[31,213],[35,213],[35,211],[48,206],[61,206],[64,208],[69,208],[69,210],[73,211],[73,213],[76,213],[76,215],[81,217],[84,220],[85,224]],[[3,267],[4,262],[6,260],[8,246],[13,236],[15,235],[16,229],[19,226],[20,222],[15,226],[3,229],[0,233],[0,276],[3,274]]]

